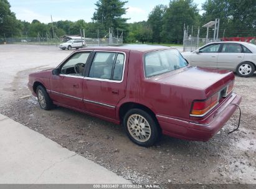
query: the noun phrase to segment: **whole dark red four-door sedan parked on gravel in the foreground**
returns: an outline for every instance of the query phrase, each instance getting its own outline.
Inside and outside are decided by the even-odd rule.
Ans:
[[[131,141],[153,145],[161,133],[208,141],[241,97],[234,74],[191,67],[176,49],[150,45],[83,48],[54,69],[29,75],[40,107],[54,105],[123,124]]]

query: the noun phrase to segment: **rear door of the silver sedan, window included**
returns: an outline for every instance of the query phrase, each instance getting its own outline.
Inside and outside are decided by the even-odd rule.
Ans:
[[[224,70],[235,71],[237,65],[244,60],[244,50],[242,45],[230,43],[223,44],[220,50],[217,67]]]

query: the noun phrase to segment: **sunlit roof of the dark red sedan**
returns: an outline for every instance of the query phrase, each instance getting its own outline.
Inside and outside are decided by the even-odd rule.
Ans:
[[[155,50],[164,50],[164,49],[171,49],[171,48],[166,46],[161,46],[161,45],[113,45],[113,46],[102,46],[102,47],[89,47],[86,49],[87,50],[135,50],[138,52],[151,52]]]

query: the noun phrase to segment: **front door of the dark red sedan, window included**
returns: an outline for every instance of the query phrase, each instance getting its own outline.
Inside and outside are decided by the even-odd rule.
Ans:
[[[52,75],[50,80],[54,101],[76,109],[83,106],[83,77],[87,68],[90,52],[73,53],[62,65],[59,75]]]

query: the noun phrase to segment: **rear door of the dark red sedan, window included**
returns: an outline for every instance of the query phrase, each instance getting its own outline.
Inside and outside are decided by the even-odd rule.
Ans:
[[[126,53],[94,52],[83,80],[83,102],[88,112],[116,119],[116,105],[125,97]]]

